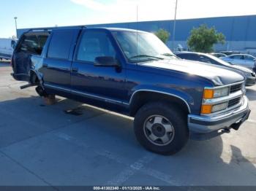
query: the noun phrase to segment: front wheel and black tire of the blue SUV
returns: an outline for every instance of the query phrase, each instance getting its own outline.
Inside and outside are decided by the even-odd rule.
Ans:
[[[164,102],[142,106],[135,115],[134,130],[143,147],[161,155],[175,154],[189,139],[186,114]]]

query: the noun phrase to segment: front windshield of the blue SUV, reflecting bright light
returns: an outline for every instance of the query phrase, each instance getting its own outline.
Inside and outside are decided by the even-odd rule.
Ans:
[[[114,31],[112,33],[131,62],[176,58],[173,52],[154,34],[136,31]]]

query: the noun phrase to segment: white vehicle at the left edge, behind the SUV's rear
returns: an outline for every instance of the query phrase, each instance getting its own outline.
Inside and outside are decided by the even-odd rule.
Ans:
[[[0,59],[10,60],[16,45],[15,39],[0,39]]]

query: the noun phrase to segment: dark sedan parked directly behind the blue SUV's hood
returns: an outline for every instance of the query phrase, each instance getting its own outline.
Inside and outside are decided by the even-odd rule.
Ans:
[[[175,52],[175,54],[182,59],[190,60],[190,61],[200,61],[204,63],[211,63],[215,66],[222,66],[229,70],[236,71],[239,74],[242,74],[246,78],[246,86],[255,85],[256,76],[255,71],[251,69],[247,69],[243,66],[236,66],[225,61],[222,61],[219,58],[216,58],[213,55],[199,53],[199,52]]]

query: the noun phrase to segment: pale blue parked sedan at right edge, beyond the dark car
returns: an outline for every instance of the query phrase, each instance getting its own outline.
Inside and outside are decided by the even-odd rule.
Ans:
[[[255,66],[256,58],[252,55],[238,54],[238,55],[229,55],[221,58],[227,63],[232,63],[235,65],[244,66],[248,69],[252,69]]]

